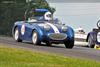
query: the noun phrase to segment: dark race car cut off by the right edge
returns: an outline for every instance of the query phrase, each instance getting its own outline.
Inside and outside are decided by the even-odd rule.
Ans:
[[[97,22],[97,28],[88,33],[86,41],[90,48],[100,49],[100,20]]]

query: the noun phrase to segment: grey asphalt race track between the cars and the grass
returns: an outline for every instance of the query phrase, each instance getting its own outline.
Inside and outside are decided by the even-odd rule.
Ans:
[[[21,48],[32,51],[43,51],[56,55],[75,57],[75,58],[85,58],[100,61],[100,50],[91,49],[88,47],[74,46],[73,49],[66,49],[63,44],[53,45],[52,47],[33,45],[29,42],[18,43],[12,37],[0,37],[0,43],[6,46]]]

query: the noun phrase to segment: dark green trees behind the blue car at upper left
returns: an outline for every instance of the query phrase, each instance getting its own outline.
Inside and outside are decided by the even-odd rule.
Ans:
[[[46,8],[52,13],[54,8],[50,7],[46,0],[0,0],[0,35],[11,36],[15,21],[24,20],[24,13],[28,8]]]

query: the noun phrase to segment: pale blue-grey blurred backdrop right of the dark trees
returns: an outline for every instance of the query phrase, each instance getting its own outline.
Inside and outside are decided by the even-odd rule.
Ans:
[[[86,33],[96,28],[100,19],[100,3],[50,2],[50,5],[56,9],[55,17],[74,29],[83,28]]]

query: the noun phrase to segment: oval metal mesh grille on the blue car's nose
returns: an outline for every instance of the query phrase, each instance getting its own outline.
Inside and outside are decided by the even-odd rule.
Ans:
[[[64,40],[67,38],[67,35],[64,33],[51,33],[49,38],[52,40]]]

